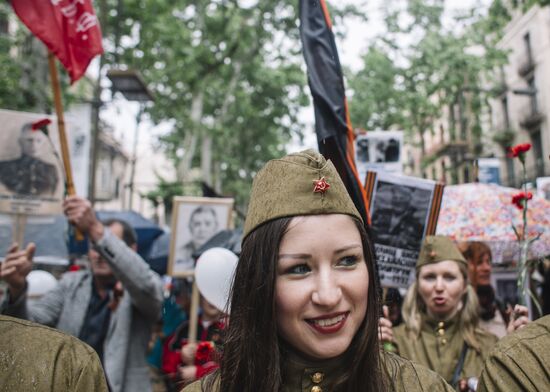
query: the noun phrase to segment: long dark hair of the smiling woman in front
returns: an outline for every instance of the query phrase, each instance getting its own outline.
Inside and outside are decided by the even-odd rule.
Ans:
[[[244,240],[232,288],[231,316],[219,371],[208,377],[203,390],[220,392],[279,391],[281,348],[275,310],[275,279],[279,247],[292,218],[270,221]],[[369,271],[367,314],[342,364],[338,391],[385,391],[378,344],[379,290],[374,251],[363,224],[361,235]]]

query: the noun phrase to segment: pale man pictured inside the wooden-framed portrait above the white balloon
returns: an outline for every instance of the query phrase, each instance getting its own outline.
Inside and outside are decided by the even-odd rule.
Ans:
[[[193,269],[195,266],[193,253],[220,231],[216,210],[208,205],[196,207],[189,216],[188,228],[191,236],[189,241],[176,249],[174,265],[176,271]]]

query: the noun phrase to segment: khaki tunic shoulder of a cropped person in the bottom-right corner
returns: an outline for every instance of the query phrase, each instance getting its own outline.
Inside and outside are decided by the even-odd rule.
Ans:
[[[485,362],[477,390],[550,391],[550,315],[498,342]]]

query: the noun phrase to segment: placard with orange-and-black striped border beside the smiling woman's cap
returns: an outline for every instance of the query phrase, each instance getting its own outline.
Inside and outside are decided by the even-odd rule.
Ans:
[[[422,241],[435,233],[443,185],[383,172],[368,172],[365,183],[380,282],[408,287]]]

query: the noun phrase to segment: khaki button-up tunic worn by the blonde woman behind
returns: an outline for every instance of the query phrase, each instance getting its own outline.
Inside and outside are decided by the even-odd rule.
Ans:
[[[400,356],[424,365],[448,383],[452,382],[464,347],[464,338],[458,330],[456,318],[437,321],[425,316],[418,337],[412,336],[404,324],[396,327],[393,335]],[[468,347],[458,380],[479,377],[483,361],[497,341],[496,336],[481,330],[476,332],[476,338],[481,350],[477,352]]]

